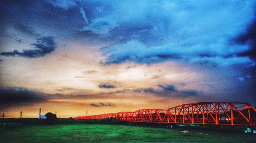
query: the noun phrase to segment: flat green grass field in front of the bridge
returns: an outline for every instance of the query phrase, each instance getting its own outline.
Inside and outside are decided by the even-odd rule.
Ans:
[[[0,142],[247,142],[241,138],[200,134],[200,131],[181,131],[101,124],[35,125],[0,132]]]

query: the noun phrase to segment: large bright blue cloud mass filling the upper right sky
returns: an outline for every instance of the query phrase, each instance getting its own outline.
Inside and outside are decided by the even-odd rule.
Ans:
[[[255,64],[251,56],[242,54],[251,52],[248,41],[254,40],[243,40],[247,41],[244,44],[230,43],[230,39],[243,33],[250,23],[255,23],[252,22],[254,2],[161,1],[149,5],[143,2],[113,5],[118,10],[110,9],[105,15],[93,18],[93,23],[104,30],[98,26],[87,27],[87,30],[116,40],[116,44],[112,42],[106,45],[108,48],[100,50],[105,56],[102,63],[106,65],[166,61],[214,66]],[[96,32],[99,30],[101,32]],[[253,39],[253,32],[245,37]]]

